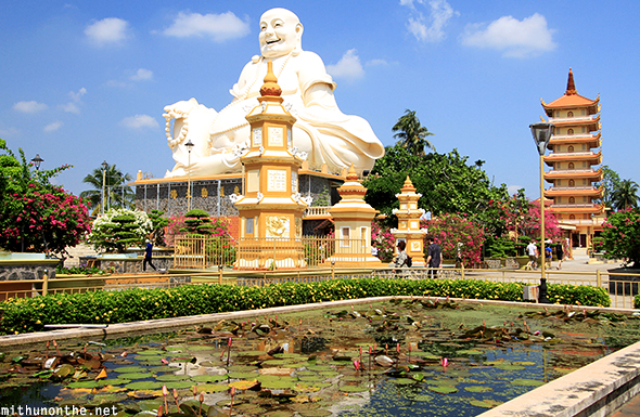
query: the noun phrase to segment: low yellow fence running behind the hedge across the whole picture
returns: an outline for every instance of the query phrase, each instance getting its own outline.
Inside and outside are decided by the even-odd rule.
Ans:
[[[327,253],[325,253],[327,255]],[[309,258],[309,259],[322,259]],[[323,262],[327,264],[327,262]],[[146,274],[140,275],[101,275],[77,278],[55,278],[34,281],[4,281],[0,282],[0,301],[9,298],[38,297],[49,294],[75,294],[100,290],[121,290],[127,288],[170,288],[185,284],[229,284],[241,286],[265,286],[284,282],[312,283],[335,278],[358,277],[428,279],[428,269],[412,268],[396,271],[389,268],[382,269],[355,269],[355,268],[329,268],[317,266],[311,269],[298,269],[295,271],[229,271],[221,268],[209,271],[193,271],[172,274]],[[450,279],[481,279],[502,283],[524,283],[538,285],[539,272],[520,270],[465,270],[444,268],[436,270],[437,278]],[[609,272],[568,272],[548,271],[546,273],[548,284],[589,285],[604,288],[611,297],[611,307],[618,309],[632,309],[633,297],[640,294],[640,273],[623,274]]]

